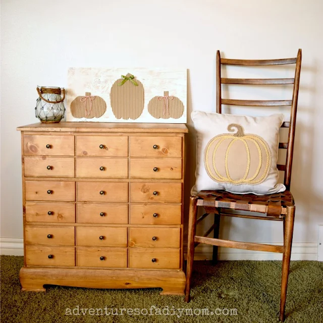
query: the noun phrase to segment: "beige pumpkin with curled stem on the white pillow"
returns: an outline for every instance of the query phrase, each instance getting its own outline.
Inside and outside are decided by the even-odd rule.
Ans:
[[[269,172],[271,155],[263,138],[244,134],[243,127],[230,124],[229,132],[212,138],[204,154],[204,165],[210,178],[231,184],[259,184]]]

